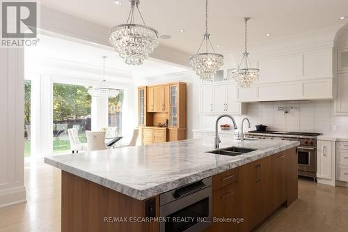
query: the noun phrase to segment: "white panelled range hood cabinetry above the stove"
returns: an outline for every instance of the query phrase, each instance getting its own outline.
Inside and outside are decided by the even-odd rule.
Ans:
[[[237,101],[333,99],[333,49],[258,59],[259,79],[239,88]]]

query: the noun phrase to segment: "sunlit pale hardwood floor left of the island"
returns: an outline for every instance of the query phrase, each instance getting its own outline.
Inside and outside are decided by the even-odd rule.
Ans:
[[[27,203],[0,208],[0,231],[61,231],[61,170],[26,162]]]

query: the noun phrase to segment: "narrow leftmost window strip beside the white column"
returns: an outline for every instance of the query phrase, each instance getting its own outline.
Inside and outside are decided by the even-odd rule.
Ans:
[[[31,155],[31,81],[24,81],[24,156]]]

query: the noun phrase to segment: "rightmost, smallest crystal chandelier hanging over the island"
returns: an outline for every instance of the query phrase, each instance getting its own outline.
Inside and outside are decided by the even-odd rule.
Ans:
[[[248,59],[248,50],[246,49],[246,26],[247,22],[250,20],[250,17],[244,17],[245,22],[245,50],[243,53],[242,61],[239,63],[237,70],[232,72],[232,77],[235,78],[239,87],[249,88],[251,83],[258,79],[260,75],[260,70],[258,68],[253,68]],[[244,62],[243,62],[244,61]],[[241,68],[242,63],[245,67]]]

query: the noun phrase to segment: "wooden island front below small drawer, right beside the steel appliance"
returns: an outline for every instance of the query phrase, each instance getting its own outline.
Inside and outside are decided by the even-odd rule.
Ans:
[[[237,223],[232,219],[239,217],[239,183],[235,182],[212,193],[213,221],[210,231],[237,231]],[[230,221],[223,221],[230,219]]]

